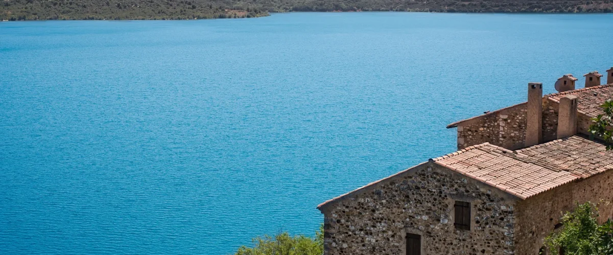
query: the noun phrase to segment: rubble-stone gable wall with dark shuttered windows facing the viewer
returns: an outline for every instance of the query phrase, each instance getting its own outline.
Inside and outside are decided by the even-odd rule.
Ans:
[[[471,230],[454,227],[454,203],[471,203]],[[428,161],[321,208],[326,255],[514,254],[517,198]]]

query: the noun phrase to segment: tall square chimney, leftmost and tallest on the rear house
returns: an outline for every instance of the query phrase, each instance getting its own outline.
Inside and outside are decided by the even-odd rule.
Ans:
[[[540,144],[543,140],[543,83],[528,83],[528,123],[525,146]]]

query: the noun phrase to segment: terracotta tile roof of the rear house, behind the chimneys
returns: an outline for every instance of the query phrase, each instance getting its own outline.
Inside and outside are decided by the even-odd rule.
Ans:
[[[604,113],[600,106],[603,105],[606,100],[613,99],[613,83],[549,94],[545,95],[545,97],[560,103],[560,98],[566,97],[566,95],[576,95],[579,98],[579,102],[577,103],[577,111],[579,111],[579,113],[585,114],[588,117],[596,117],[598,114]]]

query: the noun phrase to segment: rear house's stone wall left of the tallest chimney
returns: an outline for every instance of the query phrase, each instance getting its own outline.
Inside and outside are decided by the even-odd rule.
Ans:
[[[484,142],[511,150],[524,147],[526,117],[527,104],[521,103],[462,122],[457,127],[458,149]]]

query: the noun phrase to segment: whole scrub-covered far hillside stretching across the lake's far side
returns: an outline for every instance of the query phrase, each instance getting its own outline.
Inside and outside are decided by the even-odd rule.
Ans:
[[[0,20],[193,20],[269,12],[613,12],[606,1],[0,0]]]

